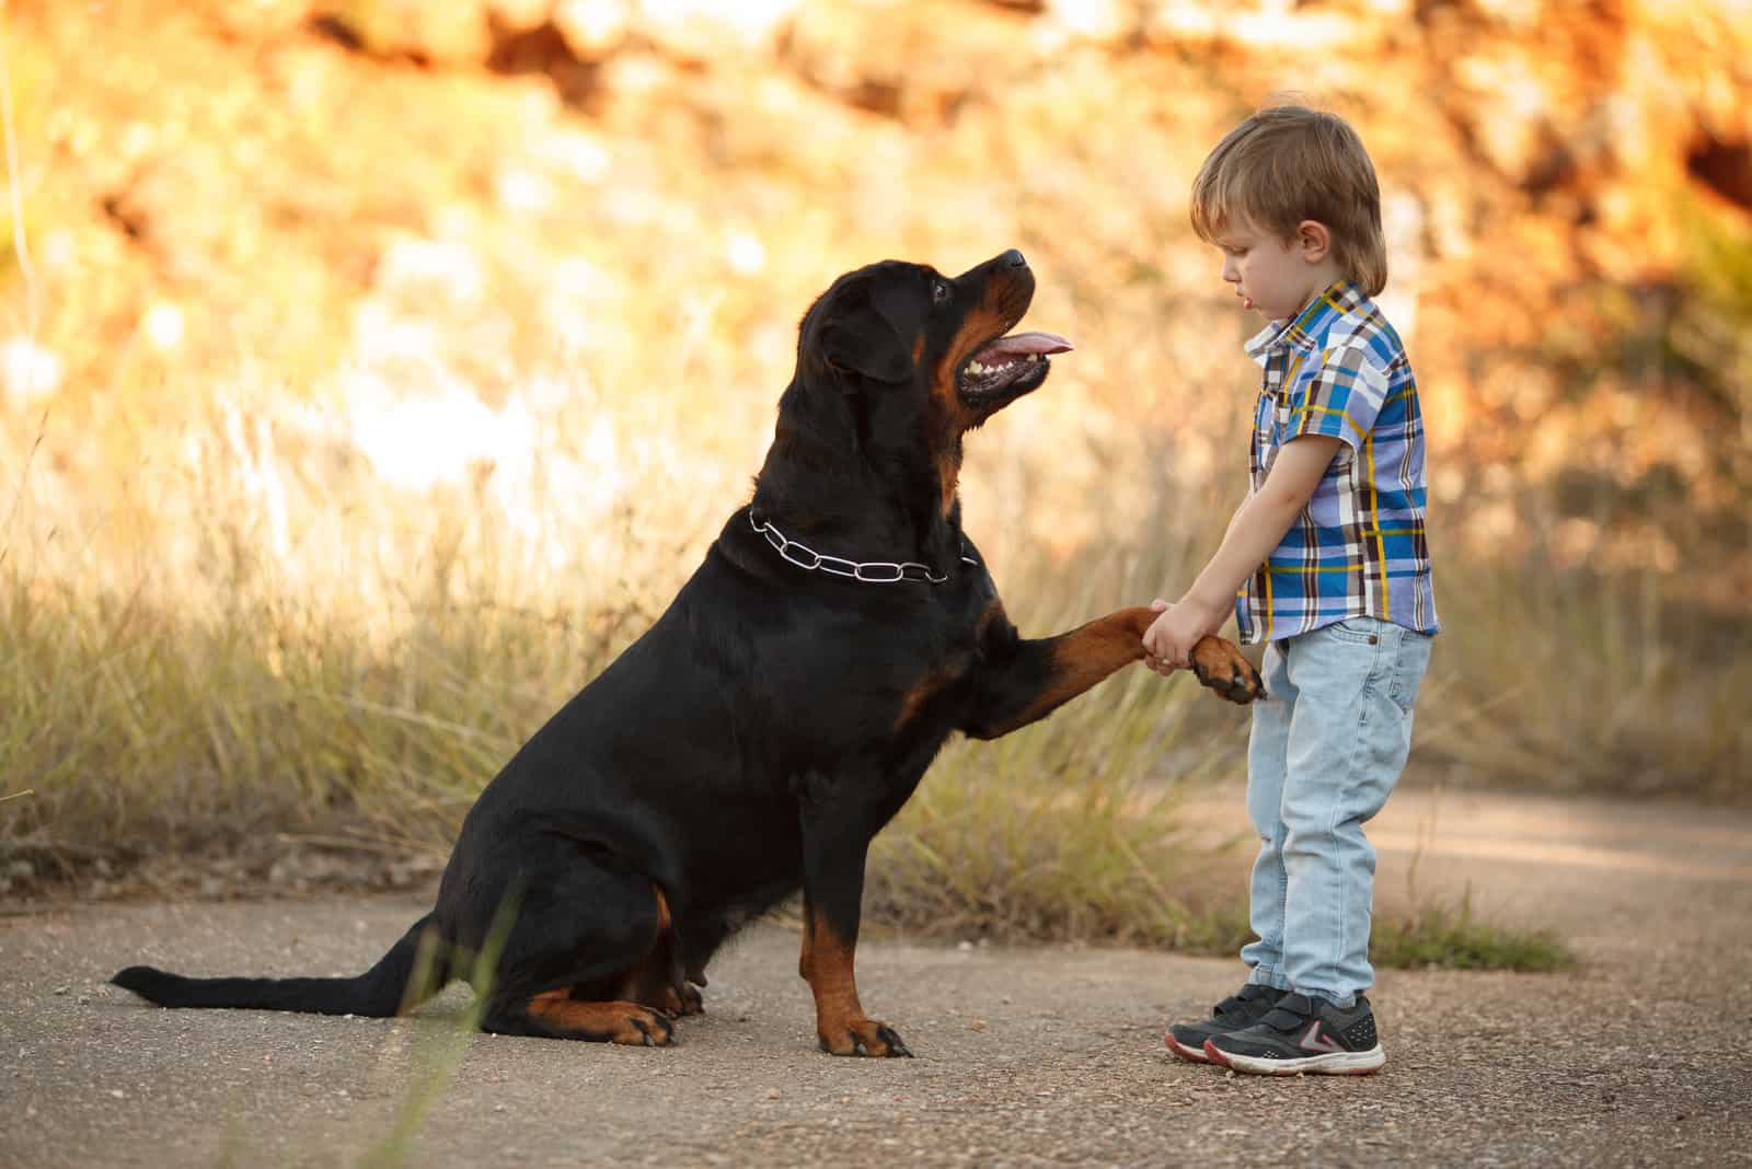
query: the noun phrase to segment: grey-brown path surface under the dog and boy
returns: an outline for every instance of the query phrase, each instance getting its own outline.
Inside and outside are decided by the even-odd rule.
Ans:
[[[0,1164],[352,1166],[415,1122],[417,1166],[1752,1164],[1752,816],[1407,791],[1372,836],[1384,903],[1416,856],[1423,896],[1554,926],[1586,968],[1386,971],[1381,1076],[1267,1082],[1160,1043],[1233,961],[867,943],[864,1001],[918,1059],[841,1060],[780,926],[713,966],[680,1048],[634,1050],[459,1036],[456,989],[357,1020],[103,985],[356,973],[422,901],[81,906],[0,919]]]

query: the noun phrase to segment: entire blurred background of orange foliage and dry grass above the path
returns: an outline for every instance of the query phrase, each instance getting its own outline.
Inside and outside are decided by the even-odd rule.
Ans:
[[[874,259],[1020,247],[1028,324],[1077,341],[962,480],[1023,630],[1176,595],[1254,392],[1186,192],[1281,93],[1374,154],[1430,422],[1445,632],[1407,782],[1752,796],[1743,2],[0,19],[9,887],[322,844],[429,875],[746,499],[797,318]],[[953,746],[872,900],[1221,933],[1167,896],[1200,835],[1174,794],[1235,779],[1244,735],[1139,670]]]

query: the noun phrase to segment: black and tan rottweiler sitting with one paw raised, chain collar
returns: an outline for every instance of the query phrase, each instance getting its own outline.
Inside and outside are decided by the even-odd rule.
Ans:
[[[962,532],[962,438],[1069,343],[1009,332],[1034,275],[885,261],[804,315],[755,480],[669,609],[487,784],[422,917],[352,978],[116,975],[163,1006],[394,1015],[452,978],[505,1034],[664,1046],[713,952],[802,889],[822,1048],[909,1055],[864,1013],[871,838],[955,732],[997,738],[1142,658],[1144,607],[1025,639]],[[1198,679],[1263,695],[1207,637]]]

